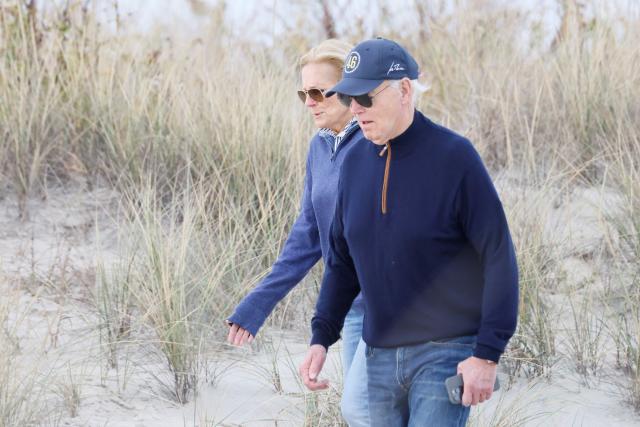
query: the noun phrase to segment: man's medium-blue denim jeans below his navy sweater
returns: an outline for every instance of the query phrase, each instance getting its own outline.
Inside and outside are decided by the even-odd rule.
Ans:
[[[445,379],[473,354],[476,337],[380,348],[366,346],[371,426],[464,426],[469,407],[453,405]]]

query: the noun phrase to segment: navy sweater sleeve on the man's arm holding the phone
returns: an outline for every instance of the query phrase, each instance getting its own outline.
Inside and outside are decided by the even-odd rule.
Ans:
[[[474,356],[498,362],[516,329],[518,265],[502,203],[482,160],[474,154],[458,192],[459,218],[484,275]]]

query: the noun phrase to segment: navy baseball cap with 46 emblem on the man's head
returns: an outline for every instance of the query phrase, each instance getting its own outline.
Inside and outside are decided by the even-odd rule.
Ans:
[[[325,93],[357,96],[371,92],[385,80],[417,79],[418,63],[398,43],[381,37],[366,40],[351,49],[342,80]]]

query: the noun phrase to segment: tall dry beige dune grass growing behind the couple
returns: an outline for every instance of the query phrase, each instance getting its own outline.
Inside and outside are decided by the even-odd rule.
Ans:
[[[130,229],[120,262],[98,271],[94,298],[105,357],[117,368],[131,324],[146,325],[171,375],[165,385],[184,403],[207,355],[220,351],[222,320],[264,275],[296,215],[312,127],[290,63],[315,40],[290,34],[280,50],[229,49],[223,27],[193,42],[141,40],[99,30],[79,5],[41,21],[19,2],[0,8],[0,176],[23,219],[27,198],[52,184],[80,179],[120,192]],[[599,375],[602,329],[581,325],[607,322],[618,331],[628,400],[640,408],[640,26],[594,20],[550,48],[535,31],[522,42],[523,17],[509,11],[425,19],[428,32],[388,34],[427,71],[433,89],[420,107],[468,135],[496,175],[518,174],[505,190],[522,278],[509,372],[546,375],[559,356],[549,296],[560,255],[544,232],[558,194],[605,186],[624,200],[624,212],[606,218],[615,262],[602,271],[620,283],[609,294],[619,321],[577,300],[571,357],[579,372]],[[280,309],[275,323],[310,313],[311,288],[293,294],[297,311]],[[0,361],[0,376],[10,363]],[[323,399],[306,398],[307,412],[339,422],[336,402]],[[29,416],[18,400],[0,406],[3,420]]]

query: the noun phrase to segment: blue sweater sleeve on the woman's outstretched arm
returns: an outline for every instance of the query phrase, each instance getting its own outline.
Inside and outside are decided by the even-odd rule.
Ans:
[[[320,234],[311,203],[311,151],[307,156],[300,213],[271,272],[240,302],[228,318],[254,337],[276,304],[322,257]]]

